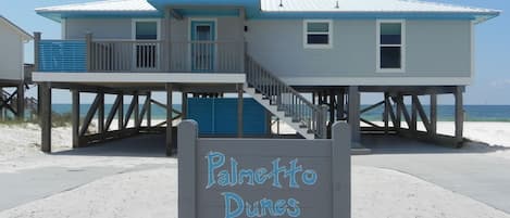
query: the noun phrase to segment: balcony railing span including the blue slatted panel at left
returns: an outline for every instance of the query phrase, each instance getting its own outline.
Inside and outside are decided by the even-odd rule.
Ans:
[[[242,41],[36,40],[40,73],[244,73]]]

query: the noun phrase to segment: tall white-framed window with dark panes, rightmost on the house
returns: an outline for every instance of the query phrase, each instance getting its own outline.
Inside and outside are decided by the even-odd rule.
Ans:
[[[403,21],[377,21],[377,72],[405,72]]]

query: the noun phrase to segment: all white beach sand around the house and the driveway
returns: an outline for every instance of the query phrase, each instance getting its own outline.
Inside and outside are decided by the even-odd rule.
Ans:
[[[290,131],[288,127],[281,130]],[[452,123],[439,123],[438,131],[452,133]],[[177,167],[174,158],[48,156],[39,152],[37,125],[0,125],[0,174],[16,174],[39,167],[136,167],[149,170],[109,176],[88,184],[0,211],[0,217],[177,217]],[[465,123],[464,136],[485,143],[465,149],[487,150],[481,155],[510,158],[510,123]],[[69,150],[71,127],[53,128],[53,149]],[[159,165],[158,165],[159,164]],[[509,217],[483,203],[453,193],[419,178],[394,170],[352,166],[352,217]],[[72,200],[72,201],[71,201]]]

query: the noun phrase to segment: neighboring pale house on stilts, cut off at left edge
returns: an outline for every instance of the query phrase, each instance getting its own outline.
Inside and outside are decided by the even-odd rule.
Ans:
[[[24,44],[33,37],[25,30],[0,15],[0,114],[9,110],[17,117],[24,115]],[[3,88],[14,88],[14,92]],[[13,100],[17,100],[14,102]]]

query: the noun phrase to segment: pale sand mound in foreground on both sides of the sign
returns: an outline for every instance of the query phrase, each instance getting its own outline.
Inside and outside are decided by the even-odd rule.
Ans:
[[[177,217],[176,167],[103,178],[0,213],[0,217]],[[509,218],[469,197],[401,172],[352,168],[352,217]]]

